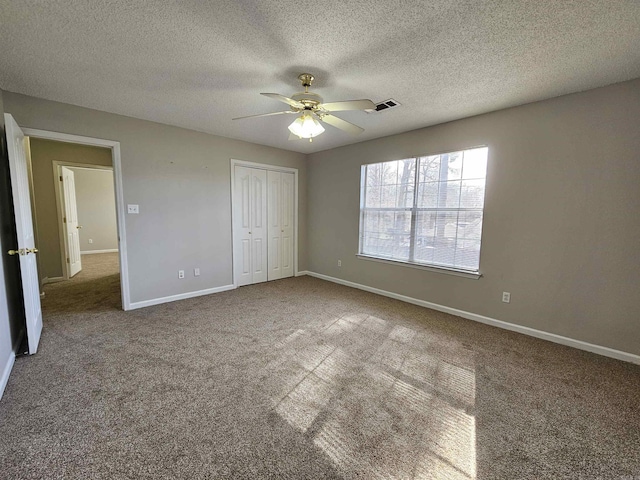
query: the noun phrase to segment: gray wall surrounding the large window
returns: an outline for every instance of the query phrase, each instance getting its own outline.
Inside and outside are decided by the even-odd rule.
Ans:
[[[640,354],[639,132],[640,79],[312,154],[309,270]],[[481,279],[355,257],[362,164],[482,144]]]

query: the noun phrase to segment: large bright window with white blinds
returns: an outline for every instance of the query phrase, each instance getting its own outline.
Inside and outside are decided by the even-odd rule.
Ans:
[[[487,154],[363,165],[360,255],[478,273]]]

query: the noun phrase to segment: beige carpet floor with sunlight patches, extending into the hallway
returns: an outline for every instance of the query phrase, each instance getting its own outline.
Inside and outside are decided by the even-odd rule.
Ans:
[[[47,287],[0,477],[640,479],[637,366],[310,277],[125,313],[113,258]]]

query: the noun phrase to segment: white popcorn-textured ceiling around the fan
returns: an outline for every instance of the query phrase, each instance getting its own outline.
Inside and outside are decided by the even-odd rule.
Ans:
[[[1,0],[0,27],[3,90],[304,153],[640,77],[638,0]],[[313,143],[231,121],[302,72],[402,106]]]

